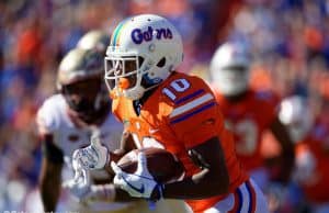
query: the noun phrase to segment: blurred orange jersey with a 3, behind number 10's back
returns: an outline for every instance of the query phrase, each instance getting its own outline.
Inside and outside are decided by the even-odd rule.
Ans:
[[[214,86],[225,125],[235,136],[237,155],[248,171],[263,166],[261,136],[276,115],[279,99],[270,91],[249,90],[237,102],[228,101]]]

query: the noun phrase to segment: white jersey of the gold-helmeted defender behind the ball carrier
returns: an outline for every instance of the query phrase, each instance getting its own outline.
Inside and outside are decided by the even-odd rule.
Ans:
[[[71,168],[71,156],[78,148],[90,145],[91,128],[78,127],[68,115],[68,107],[61,94],[55,94],[43,103],[37,112],[37,125],[42,133],[52,134],[54,144],[65,157],[65,162]],[[109,150],[120,148],[123,125],[112,113],[99,126],[101,142]],[[92,170],[91,177],[97,179],[107,178],[105,170]]]

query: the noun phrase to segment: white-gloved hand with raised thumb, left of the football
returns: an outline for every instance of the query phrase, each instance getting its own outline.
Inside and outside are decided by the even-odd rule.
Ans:
[[[72,164],[80,165],[83,169],[102,169],[107,161],[110,153],[101,144],[99,135],[93,135],[89,146],[75,150],[72,155]]]

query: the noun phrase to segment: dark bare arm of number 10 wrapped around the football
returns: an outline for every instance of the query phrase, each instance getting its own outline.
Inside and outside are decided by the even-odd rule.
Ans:
[[[189,155],[201,171],[183,181],[164,184],[163,198],[194,200],[227,193],[229,176],[218,137],[192,147]]]

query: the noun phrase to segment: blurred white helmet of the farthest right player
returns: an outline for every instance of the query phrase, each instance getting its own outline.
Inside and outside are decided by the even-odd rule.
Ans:
[[[287,126],[295,143],[306,136],[315,120],[306,99],[299,96],[283,99],[280,104],[279,119]]]

